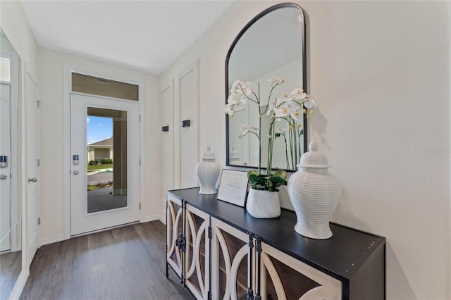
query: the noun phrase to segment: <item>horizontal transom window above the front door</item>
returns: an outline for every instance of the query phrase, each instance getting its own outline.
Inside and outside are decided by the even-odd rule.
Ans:
[[[126,82],[72,73],[72,91],[138,101],[139,87]]]

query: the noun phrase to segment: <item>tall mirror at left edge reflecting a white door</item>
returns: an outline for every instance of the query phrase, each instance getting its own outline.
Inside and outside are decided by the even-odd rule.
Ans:
[[[0,299],[22,270],[20,57],[0,28]]]

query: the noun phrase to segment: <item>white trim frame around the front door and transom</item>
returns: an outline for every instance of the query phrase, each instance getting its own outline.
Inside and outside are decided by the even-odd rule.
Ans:
[[[119,82],[126,82],[132,85],[137,85],[138,90],[138,105],[140,111],[140,191],[138,193],[138,200],[141,205],[140,222],[144,222],[144,82],[139,80],[130,80],[117,75],[99,73],[95,70],[87,68],[78,68],[70,63],[64,63],[64,95],[63,95],[63,113],[64,113],[64,237],[63,239],[70,239],[70,93],[72,73],[80,73],[95,77],[101,77],[109,80],[116,80]],[[78,93],[80,94],[80,93]],[[96,95],[94,95],[96,96]],[[59,239],[61,240],[61,239]],[[57,242],[57,241],[47,241]]]

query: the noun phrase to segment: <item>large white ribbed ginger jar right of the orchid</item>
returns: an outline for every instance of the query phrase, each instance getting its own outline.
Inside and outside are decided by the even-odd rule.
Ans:
[[[310,142],[309,152],[301,156],[297,172],[288,180],[288,196],[297,216],[296,232],[312,239],[328,239],[332,237],[329,220],[340,200],[341,186],[328,173],[326,156],[317,150],[316,142]]]

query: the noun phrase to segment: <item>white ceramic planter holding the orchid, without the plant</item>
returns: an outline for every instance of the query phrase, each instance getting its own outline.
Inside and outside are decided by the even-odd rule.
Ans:
[[[277,218],[280,215],[280,201],[278,192],[259,191],[249,189],[246,210],[254,218]]]

